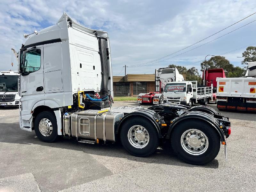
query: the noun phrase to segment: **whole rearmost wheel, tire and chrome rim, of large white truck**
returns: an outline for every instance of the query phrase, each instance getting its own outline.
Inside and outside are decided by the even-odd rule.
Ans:
[[[178,157],[189,164],[206,164],[220,151],[218,133],[203,121],[187,120],[178,124],[171,143]]]

